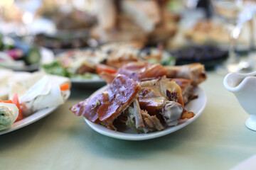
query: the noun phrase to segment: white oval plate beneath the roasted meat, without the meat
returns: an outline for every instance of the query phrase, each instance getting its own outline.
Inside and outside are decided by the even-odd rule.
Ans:
[[[102,89],[104,89],[104,88],[105,87],[102,87]],[[99,89],[98,91],[102,91],[102,89]],[[86,118],[85,118],[85,122],[90,126],[90,128],[92,128],[96,132],[99,132],[102,135],[114,137],[114,138],[117,138],[120,140],[149,140],[149,139],[153,139],[156,137],[168,135],[172,132],[175,132],[176,130],[180,130],[181,128],[185,127],[186,125],[189,125],[194,120],[196,120],[199,117],[199,115],[201,115],[201,113],[203,113],[203,110],[206,107],[206,101],[207,101],[206,94],[199,87],[197,87],[194,90],[195,90],[195,94],[198,95],[198,98],[190,101],[185,106],[185,108],[188,111],[193,111],[193,113],[195,113],[196,115],[191,119],[181,120],[178,123],[178,125],[166,128],[165,130],[162,130],[162,131],[143,133],[143,134],[138,134],[136,132],[131,132],[131,131],[118,132],[118,131],[114,131],[114,130],[105,128],[105,126],[99,125],[97,123],[92,123],[90,120],[87,120]],[[97,91],[95,93],[97,93]]]

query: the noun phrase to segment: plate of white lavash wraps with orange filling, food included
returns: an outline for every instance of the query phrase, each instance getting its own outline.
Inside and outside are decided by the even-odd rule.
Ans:
[[[0,135],[40,120],[70,96],[65,77],[0,69],[0,79]]]

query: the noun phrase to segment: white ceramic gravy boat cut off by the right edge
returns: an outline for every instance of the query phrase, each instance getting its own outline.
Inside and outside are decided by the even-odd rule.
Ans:
[[[256,131],[256,72],[227,74],[223,84],[225,89],[235,94],[242,108],[250,115],[245,122],[247,128]]]

